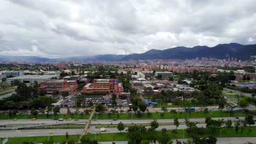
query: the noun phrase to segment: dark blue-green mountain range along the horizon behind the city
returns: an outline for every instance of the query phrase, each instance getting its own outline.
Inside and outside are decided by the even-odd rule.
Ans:
[[[127,61],[142,59],[192,59],[195,57],[208,58],[227,58],[234,57],[237,59],[248,59],[250,56],[256,55],[256,44],[242,45],[237,43],[219,44],[214,47],[194,46],[184,47],[178,46],[166,50],[149,50],[144,53],[132,53],[130,55],[97,55],[97,56],[79,56],[66,58],[44,58],[36,56],[0,56],[0,61],[16,61],[16,62],[60,62],[60,61]]]

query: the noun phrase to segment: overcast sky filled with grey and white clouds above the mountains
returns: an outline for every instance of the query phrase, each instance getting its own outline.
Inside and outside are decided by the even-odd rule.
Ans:
[[[48,58],[256,43],[256,1],[0,1],[0,55]]]

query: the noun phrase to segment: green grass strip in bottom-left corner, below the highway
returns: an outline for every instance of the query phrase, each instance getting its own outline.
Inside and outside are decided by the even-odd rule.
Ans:
[[[80,135],[69,135],[69,138],[66,139],[65,135],[56,135],[49,136],[49,139],[53,139],[54,142],[63,142],[63,141],[77,141]],[[9,137],[7,144],[18,144],[22,142],[44,142],[48,140],[48,136],[33,136],[33,137]]]

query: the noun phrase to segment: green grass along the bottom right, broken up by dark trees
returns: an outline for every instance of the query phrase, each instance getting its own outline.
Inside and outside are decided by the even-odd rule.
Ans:
[[[231,129],[225,129],[222,130],[222,137],[253,137],[256,136],[256,127],[251,127],[251,130],[247,127],[243,133],[241,133],[241,130],[238,131],[236,134],[236,131],[234,128]],[[178,130],[178,134],[174,137],[174,135],[171,134],[172,130],[167,130],[167,134],[169,134],[172,139],[182,139],[183,138],[183,129]],[[154,131],[155,136],[160,136],[161,131]],[[206,130],[204,134],[200,135],[201,137],[206,137],[209,135],[213,135],[216,137],[220,137],[220,131],[212,132],[210,130]],[[148,131],[144,134],[144,139],[148,140],[150,134],[148,134]],[[89,137],[91,140],[95,140],[95,135],[86,135],[86,137]],[[191,138],[186,130],[184,130],[184,138]],[[130,140],[130,137],[128,136],[128,133],[105,133],[105,134],[97,134],[96,135],[97,141],[127,141]]]

